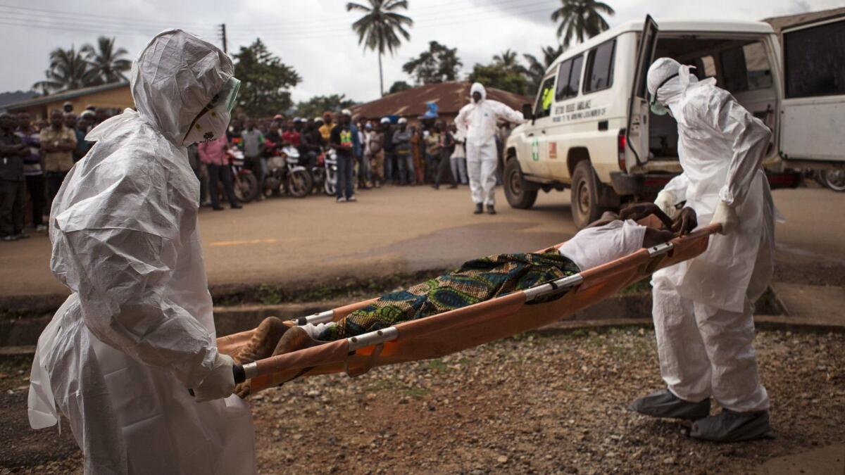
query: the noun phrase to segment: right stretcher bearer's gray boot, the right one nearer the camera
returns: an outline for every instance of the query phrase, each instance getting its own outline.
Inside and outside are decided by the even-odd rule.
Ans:
[[[769,412],[722,412],[695,421],[690,437],[714,442],[741,442],[743,440],[774,439],[769,425]]]

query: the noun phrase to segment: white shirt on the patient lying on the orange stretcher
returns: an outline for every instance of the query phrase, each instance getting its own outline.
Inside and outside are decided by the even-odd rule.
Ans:
[[[642,248],[646,227],[635,221],[612,221],[604,226],[587,227],[560,246],[559,252],[587,270],[619,259]]]

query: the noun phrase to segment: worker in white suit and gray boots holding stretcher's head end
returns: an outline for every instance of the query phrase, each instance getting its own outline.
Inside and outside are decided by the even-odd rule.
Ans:
[[[684,172],[657,195],[672,216],[686,201],[700,223],[722,225],[704,254],[651,280],[660,370],[668,390],[638,399],[646,415],[695,420],[690,435],[752,440],[771,435],[769,397],[754,354],[754,303],[773,270],[774,205],[760,162],[771,131],[715,79],[662,57],[648,71],[651,110],[678,122]],[[722,412],[709,416],[710,397]]]

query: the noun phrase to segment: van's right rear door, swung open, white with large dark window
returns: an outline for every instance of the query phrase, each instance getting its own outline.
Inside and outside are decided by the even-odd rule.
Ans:
[[[780,155],[845,163],[845,15],[782,31]]]

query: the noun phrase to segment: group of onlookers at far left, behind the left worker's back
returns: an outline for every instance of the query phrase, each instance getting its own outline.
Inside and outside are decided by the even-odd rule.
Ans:
[[[29,238],[25,224],[46,230],[52,199],[90,149],[85,134],[112,112],[89,106],[76,114],[68,102],[46,120],[34,121],[27,112],[0,114],[0,239]]]

